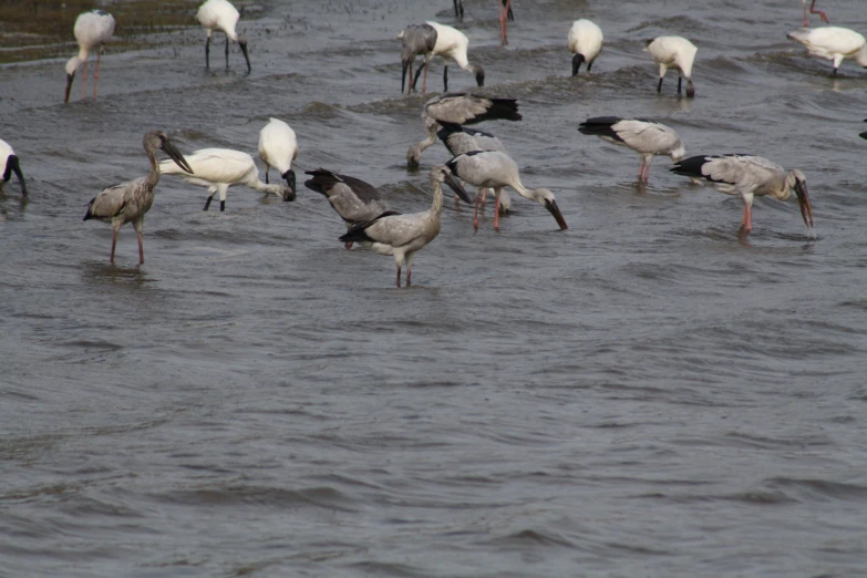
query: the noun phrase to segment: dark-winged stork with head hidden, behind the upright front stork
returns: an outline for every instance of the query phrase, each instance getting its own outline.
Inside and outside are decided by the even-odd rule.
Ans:
[[[328,198],[331,208],[347,224],[347,229],[351,229],[359,223],[370,223],[379,217],[400,215],[396,210],[391,209],[373,185],[360,178],[338,175],[324,168],[307,171],[307,174],[313,178],[305,180],[305,186]],[[347,249],[351,247],[352,242],[348,241]]]

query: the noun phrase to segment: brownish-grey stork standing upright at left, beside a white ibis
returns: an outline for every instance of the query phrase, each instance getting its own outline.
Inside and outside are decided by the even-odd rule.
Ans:
[[[117,245],[117,234],[126,223],[132,223],[135,234],[138,236],[138,265],[144,264],[144,246],[142,245],[142,225],[144,216],[154,203],[154,189],[159,183],[159,169],[156,165],[156,149],[163,149],[172,162],[177,163],[183,171],[190,173],[184,155],[180,154],[168,136],[162,131],[151,131],[144,136],[144,149],[151,161],[151,172],[147,176],[127,180],[113,187],[103,189],[87,205],[87,213],[82,220],[99,219],[110,223],[114,235],[112,236],[112,255],[110,262],[114,262],[114,247]]]

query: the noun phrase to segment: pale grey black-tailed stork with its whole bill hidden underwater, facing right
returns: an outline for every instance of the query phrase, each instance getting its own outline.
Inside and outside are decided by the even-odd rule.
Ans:
[[[650,176],[650,163],[654,155],[668,155],[677,163],[687,154],[687,148],[673,128],[653,121],[640,118],[620,118],[619,116],[597,116],[587,118],[578,126],[581,134],[596,135],[602,141],[627,146],[641,156],[638,178],[647,183]]]

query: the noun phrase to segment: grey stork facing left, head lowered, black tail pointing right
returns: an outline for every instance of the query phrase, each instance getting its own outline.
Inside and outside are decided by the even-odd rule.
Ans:
[[[488,99],[476,94],[442,94],[427,101],[422,107],[422,122],[427,138],[406,151],[409,166],[419,166],[425,148],[436,143],[440,123],[476,124],[489,120],[520,121],[515,99]]]

